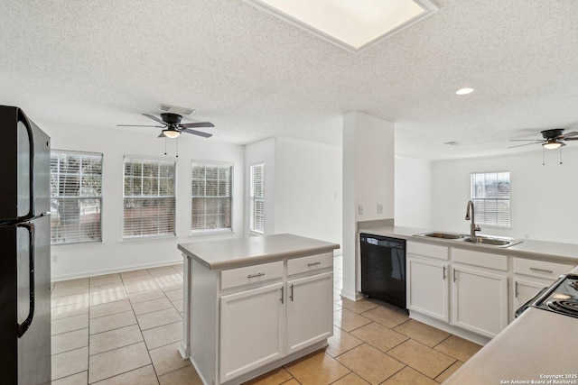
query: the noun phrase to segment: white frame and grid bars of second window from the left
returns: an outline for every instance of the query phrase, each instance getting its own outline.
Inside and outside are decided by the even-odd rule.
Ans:
[[[127,161],[132,161],[133,163],[135,161],[140,161],[141,163],[141,195],[126,195],[126,163]],[[144,195],[144,163],[155,163],[157,166],[157,176],[156,176],[156,180],[157,180],[157,195]],[[162,179],[160,176],[160,167],[162,164],[172,164],[172,196],[161,196],[158,193],[158,190],[160,188],[160,180]],[[150,156],[142,156],[142,155],[125,155],[123,157],[123,183],[122,183],[122,187],[123,187],[123,216],[122,216],[122,225],[121,225],[121,240],[123,242],[132,242],[132,241],[141,241],[141,240],[151,240],[151,239],[158,239],[158,238],[174,238],[177,236],[177,220],[176,220],[176,206],[177,206],[177,161],[176,159],[162,159],[162,158],[154,158],[154,157],[150,157]],[[134,177],[134,176],[128,176],[128,177]],[[149,178],[149,177],[146,177]],[[154,177],[150,177],[151,181],[154,180]],[[169,178],[170,179],[170,178]],[[134,186],[134,185],[133,185]],[[168,218],[172,218],[172,232],[167,232],[167,233],[161,233],[159,231],[157,231],[155,234],[142,234],[143,233],[143,229],[144,227],[141,225],[140,230],[141,230],[141,234],[133,234],[133,235],[126,235],[127,232],[127,228],[126,228],[126,199],[142,199],[143,203],[144,200],[149,199],[149,200],[157,200],[157,199],[172,199],[172,216],[166,216]],[[156,206],[158,207],[158,206]],[[170,206],[167,206],[170,207]],[[157,219],[161,218],[160,215],[156,215]],[[156,223],[157,228],[160,227],[160,223]]]

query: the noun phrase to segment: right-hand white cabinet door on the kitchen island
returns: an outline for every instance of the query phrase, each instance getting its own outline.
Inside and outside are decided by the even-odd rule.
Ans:
[[[333,273],[287,282],[287,354],[333,335]]]

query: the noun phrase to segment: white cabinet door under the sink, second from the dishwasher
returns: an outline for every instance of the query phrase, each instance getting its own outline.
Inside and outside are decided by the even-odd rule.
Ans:
[[[508,325],[508,277],[453,267],[453,324],[494,337]]]

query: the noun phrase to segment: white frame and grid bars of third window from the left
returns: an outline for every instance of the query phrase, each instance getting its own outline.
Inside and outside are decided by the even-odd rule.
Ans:
[[[192,188],[192,183],[195,180],[194,177],[194,172],[195,172],[195,165],[203,165],[203,166],[218,166],[219,168],[221,167],[228,167],[229,170],[229,179],[228,179],[228,195],[226,196],[208,196],[208,195],[194,195],[194,188]],[[234,233],[234,229],[233,229],[233,225],[234,225],[234,217],[233,217],[233,206],[234,206],[234,197],[233,197],[233,191],[234,191],[234,170],[235,170],[235,165],[231,162],[225,162],[225,161],[217,161],[217,160],[191,160],[191,235],[207,235],[207,234],[223,234],[223,233]],[[219,180],[219,179],[218,179]],[[205,173],[204,179],[203,181],[206,183],[207,181],[207,175]],[[206,188],[205,188],[205,193],[206,193]],[[193,224],[195,223],[194,221],[194,214],[192,213],[193,207],[194,207],[194,199],[203,199],[203,198],[216,198],[216,199],[223,199],[223,198],[228,198],[229,199],[229,211],[228,211],[228,217],[229,217],[229,221],[230,221],[230,226],[229,227],[216,227],[216,228],[202,228],[202,229],[195,229],[193,228]],[[205,217],[207,217],[207,211],[206,211],[206,207],[205,207],[205,211],[203,214]],[[219,215],[219,214],[218,214]],[[206,225],[206,223],[205,223]]]

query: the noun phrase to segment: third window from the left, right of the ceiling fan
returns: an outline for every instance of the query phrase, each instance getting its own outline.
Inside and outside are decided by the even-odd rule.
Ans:
[[[232,231],[233,165],[192,161],[191,231]]]

